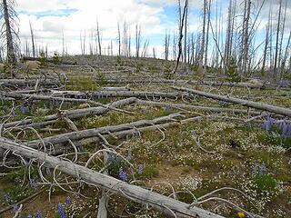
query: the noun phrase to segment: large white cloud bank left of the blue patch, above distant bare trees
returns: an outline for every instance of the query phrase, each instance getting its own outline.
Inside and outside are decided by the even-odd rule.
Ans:
[[[77,9],[77,11],[63,16],[35,14],[60,9]],[[96,19],[104,38],[115,38],[117,22],[122,28],[125,21],[131,25],[132,32],[135,24],[141,25],[143,36],[164,33],[164,27],[160,24],[163,8],[135,0],[52,0],[42,3],[39,3],[39,0],[19,0],[17,11],[25,12],[19,15],[21,38],[30,37],[30,21],[37,40],[54,49],[62,47],[61,44],[58,46],[57,44],[62,39],[63,31],[66,41],[70,43],[69,49],[79,47],[80,31],[86,30],[89,35],[96,28]]]

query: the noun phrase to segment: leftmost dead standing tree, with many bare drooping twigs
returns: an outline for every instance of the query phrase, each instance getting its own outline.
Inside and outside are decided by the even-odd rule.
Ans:
[[[3,0],[1,2],[1,18],[4,18],[4,23],[1,28],[1,37],[5,40],[4,45],[7,46],[6,59],[9,64],[16,64],[16,49],[18,39],[18,28],[15,24],[17,14],[14,9],[14,0]]]

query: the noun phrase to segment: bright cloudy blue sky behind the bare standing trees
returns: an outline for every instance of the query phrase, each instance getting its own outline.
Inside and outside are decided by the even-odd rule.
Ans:
[[[62,53],[62,38],[68,54],[80,54],[80,32],[86,33],[86,51],[89,52],[88,40],[91,33],[95,34],[96,22],[100,26],[103,46],[107,47],[117,38],[117,23],[130,25],[132,35],[135,25],[141,26],[142,43],[149,40],[149,50],[155,47],[160,57],[163,56],[163,40],[165,33],[177,30],[176,0],[15,0],[18,13],[19,35],[24,47],[25,39],[30,42],[29,23],[33,26],[38,46],[45,47],[51,53]],[[226,25],[226,13],[229,0],[212,0],[221,10]],[[217,3],[216,3],[217,1]],[[242,1],[242,0],[238,0]],[[264,0],[254,0],[259,5]],[[280,0],[265,0],[265,6],[258,19],[257,43],[263,40],[269,4],[274,9]],[[283,0],[283,2],[289,0]],[[184,3],[184,0],[181,0]],[[198,33],[202,27],[202,0],[189,0],[190,32]],[[287,17],[291,15],[291,3],[287,5]],[[221,9],[220,9],[221,8]],[[215,9],[214,9],[215,10]],[[239,9],[238,13],[239,13]],[[288,16],[289,15],[289,16]],[[286,20],[287,29],[291,29],[291,19]],[[226,29],[226,28],[225,28]],[[286,31],[287,32],[287,31]],[[286,34],[287,35],[287,34]],[[115,45],[115,49],[116,49]]]

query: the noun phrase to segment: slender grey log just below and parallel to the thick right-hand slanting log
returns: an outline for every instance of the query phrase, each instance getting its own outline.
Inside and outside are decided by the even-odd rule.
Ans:
[[[172,104],[172,103],[160,103],[160,102],[152,102],[138,99],[136,104],[146,104],[146,105],[154,105],[157,107],[170,107],[174,109],[192,109],[199,111],[207,111],[207,112],[219,112],[219,113],[233,113],[233,114],[249,114],[249,115],[260,115],[261,112],[249,111],[243,109],[230,109],[230,108],[221,108],[221,107],[206,107],[206,106],[196,106],[191,104]]]

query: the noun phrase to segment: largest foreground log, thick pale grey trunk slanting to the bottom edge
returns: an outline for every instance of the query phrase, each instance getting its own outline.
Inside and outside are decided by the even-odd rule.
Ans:
[[[94,170],[88,169],[85,166],[62,160],[57,157],[49,156],[43,152],[36,151],[24,144],[16,144],[13,141],[5,138],[0,138],[0,147],[5,150],[14,151],[15,154],[22,155],[25,158],[34,160],[37,163],[45,163],[45,166],[55,168],[57,170],[69,174],[73,177],[81,178],[81,180],[95,184],[96,186],[108,190],[111,193],[116,193],[125,198],[135,201],[136,203],[149,204],[156,211],[165,213],[168,216],[176,217],[204,217],[204,218],[223,218],[223,216],[215,213],[207,212],[198,207],[188,209],[189,204],[179,202],[173,198],[166,197],[159,193],[148,191],[139,186],[122,182],[109,175],[97,173]]]

